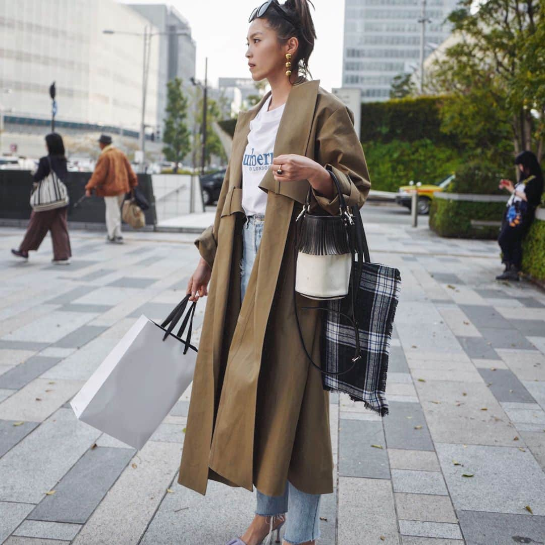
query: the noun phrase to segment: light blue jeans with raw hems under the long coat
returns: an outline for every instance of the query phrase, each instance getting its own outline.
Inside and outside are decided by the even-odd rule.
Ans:
[[[253,262],[263,235],[265,218],[249,216],[243,226],[243,257],[240,262],[240,289],[244,299]],[[287,513],[284,541],[293,544],[317,540],[320,537],[320,494],[307,494],[286,481],[281,496],[267,496],[257,490],[256,514],[272,517]]]

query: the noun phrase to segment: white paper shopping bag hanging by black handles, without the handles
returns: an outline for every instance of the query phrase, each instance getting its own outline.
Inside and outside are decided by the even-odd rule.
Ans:
[[[71,401],[78,419],[140,450],[193,380],[197,349],[141,316]]]

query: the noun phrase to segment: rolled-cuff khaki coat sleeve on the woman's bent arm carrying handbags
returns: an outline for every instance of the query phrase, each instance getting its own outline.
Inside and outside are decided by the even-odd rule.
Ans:
[[[354,130],[354,115],[341,106],[325,120],[316,138],[316,160],[337,175],[348,207],[365,203],[371,182],[364,150]],[[339,198],[328,199],[312,189],[316,203],[331,215],[338,214]]]

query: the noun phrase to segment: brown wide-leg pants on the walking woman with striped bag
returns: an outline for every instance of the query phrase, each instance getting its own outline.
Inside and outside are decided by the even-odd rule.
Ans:
[[[67,207],[46,210],[43,212],[32,211],[25,239],[23,239],[19,250],[21,252],[38,250],[47,231],[51,231],[51,238],[53,239],[53,259],[57,261],[71,257],[72,252],[70,250],[70,238],[68,237],[68,223],[66,223],[67,214]]]

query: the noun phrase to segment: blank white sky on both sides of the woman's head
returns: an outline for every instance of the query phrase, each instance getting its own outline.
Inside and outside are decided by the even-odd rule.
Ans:
[[[204,79],[204,58],[208,57],[208,80],[217,86],[218,77],[250,77],[244,57],[248,17],[264,0],[124,0],[131,4],[169,4],[191,26],[197,44],[197,78]],[[281,2],[282,3],[282,2]],[[312,10],[318,39],[310,58],[312,77],[331,90],[341,87],[344,2],[313,0]]]

